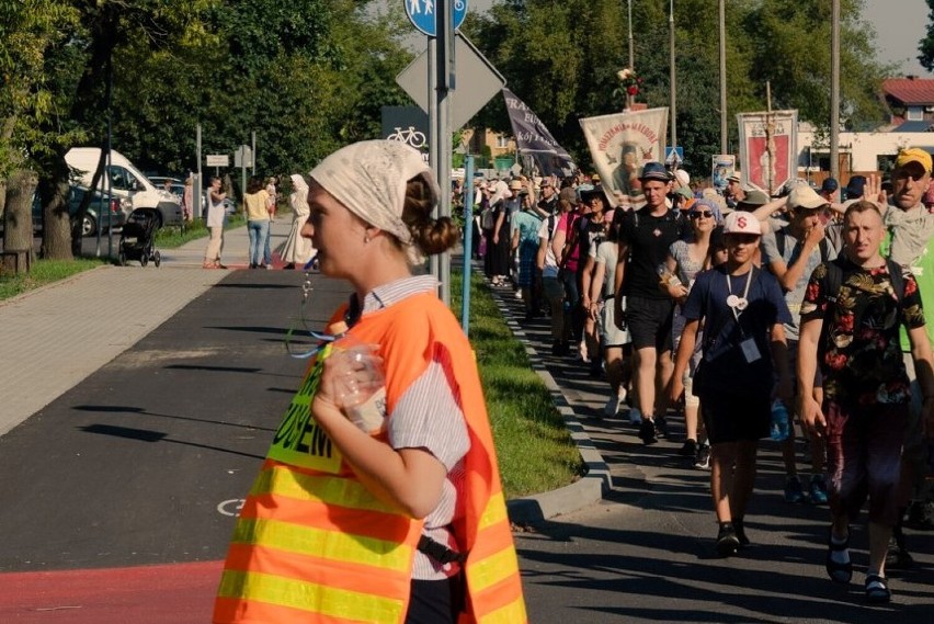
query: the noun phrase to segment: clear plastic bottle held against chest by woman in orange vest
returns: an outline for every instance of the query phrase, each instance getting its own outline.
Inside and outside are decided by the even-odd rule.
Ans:
[[[386,376],[383,359],[376,354],[378,344],[366,344],[348,333],[348,326],[338,321],[329,328],[339,336],[329,359],[334,359],[338,376],[334,399],[351,422],[371,435],[386,427]]]

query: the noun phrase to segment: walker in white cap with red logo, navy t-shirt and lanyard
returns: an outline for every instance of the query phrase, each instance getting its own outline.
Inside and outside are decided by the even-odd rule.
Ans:
[[[775,393],[790,400],[785,324],[791,315],[774,275],[753,262],[762,228],[755,216],[727,215],[727,262],[697,274],[682,308],[686,319],[677,347],[670,397],[682,378],[704,321],[703,356],[694,394],[710,443],[710,495],[719,531],[716,548],[728,557],[749,544],[743,526],[755,483],[759,440],[768,435]]]

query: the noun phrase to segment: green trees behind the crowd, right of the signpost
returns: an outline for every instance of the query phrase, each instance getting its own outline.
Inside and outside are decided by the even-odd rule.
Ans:
[[[841,118],[862,128],[884,121],[878,99],[890,68],[875,60],[875,33],[861,20],[862,0],[841,0]],[[637,101],[670,104],[669,0],[634,1]],[[506,77],[576,162],[590,167],[578,120],[618,112],[616,72],[628,65],[627,3],[619,0],[510,0],[470,19],[464,31]],[[620,10],[622,9],[622,10]],[[726,0],[727,120],[736,152],[736,114],[795,107],[799,118],[830,124],[830,2]],[[688,170],[705,171],[720,151],[718,2],[674,3],[677,140]],[[477,123],[509,132],[502,99]]]

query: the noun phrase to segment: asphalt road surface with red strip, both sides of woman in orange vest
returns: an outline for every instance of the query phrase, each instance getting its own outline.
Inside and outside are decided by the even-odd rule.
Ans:
[[[163,270],[173,270],[170,259]],[[103,271],[162,284],[149,270]],[[217,277],[0,436],[0,622],[209,621],[238,501],[305,370],[283,349],[303,275],[175,271]],[[179,287],[161,280],[161,288]],[[316,276],[308,326],[322,327],[346,292]],[[121,294],[98,303],[126,305]],[[520,316],[511,292],[497,296]],[[603,455],[612,488],[593,504],[517,526],[532,622],[931,621],[934,534],[909,531],[915,567],[892,575],[892,605],[867,608],[863,523],[853,536],[854,582],[834,586],[823,571],[827,509],[782,500],[771,442],[747,519],[753,545],[714,558],[708,473],[685,465],[680,439],[643,447],[623,415],[596,419],[605,383],[550,355],[546,322],[514,327],[571,406],[570,426]]]

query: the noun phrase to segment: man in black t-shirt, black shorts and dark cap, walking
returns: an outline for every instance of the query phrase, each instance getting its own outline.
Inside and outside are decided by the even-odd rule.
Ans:
[[[659,287],[658,266],[669,247],[684,238],[687,222],[665,202],[671,181],[664,164],[647,162],[639,177],[646,205],[638,211],[619,212],[619,261],[616,268],[615,315],[617,326],[628,325],[635,355],[635,383],[641,426],[639,438],[653,444],[667,435],[664,412],[668,401],[661,392],[669,381],[671,319],[674,302]],[[626,313],[623,311],[626,298]],[[631,420],[631,419],[630,419]]]

